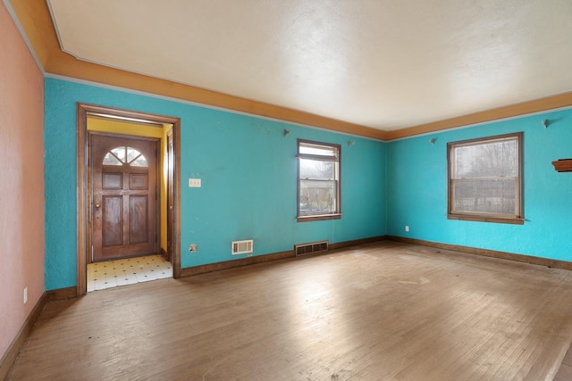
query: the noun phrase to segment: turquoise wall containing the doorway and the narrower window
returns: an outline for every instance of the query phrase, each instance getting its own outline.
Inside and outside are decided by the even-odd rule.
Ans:
[[[77,281],[77,102],[181,118],[183,268],[243,258],[231,256],[233,240],[254,239],[261,255],[386,233],[381,142],[61,79],[46,79],[45,91],[46,290]],[[296,221],[297,138],[342,146],[342,219]],[[202,187],[189,188],[188,178]]]

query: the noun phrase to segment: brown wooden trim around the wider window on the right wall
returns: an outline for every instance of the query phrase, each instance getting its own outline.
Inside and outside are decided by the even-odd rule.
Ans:
[[[517,201],[517,214],[515,217],[507,217],[502,214],[494,213],[475,213],[475,212],[465,212],[465,211],[455,211],[453,212],[453,192],[454,188],[452,186],[453,178],[451,176],[451,160],[452,153],[455,147],[460,145],[473,145],[477,143],[488,143],[495,140],[507,139],[507,138],[517,138],[517,152],[518,152],[518,178],[517,186],[518,190],[515,194],[518,197]],[[523,162],[524,158],[522,155],[523,147],[523,137],[522,132],[516,132],[512,134],[496,135],[492,137],[477,137],[474,139],[460,140],[457,142],[447,143],[447,219],[458,219],[467,221],[479,221],[479,222],[495,222],[495,223],[505,223],[514,225],[523,225],[525,223],[524,219],[524,198],[523,198]]]

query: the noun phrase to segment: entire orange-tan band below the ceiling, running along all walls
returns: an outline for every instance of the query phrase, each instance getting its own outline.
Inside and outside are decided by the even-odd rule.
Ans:
[[[572,106],[572,92],[568,92],[447,120],[384,131],[234,95],[225,95],[166,79],[156,79],[130,71],[80,61],[72,57],[71,54],[62,51],[45,0],[4,0],[4,4],[11,11],[19,28],[23,28],[22,37],[29,44],[30,50],[34,52],[34,57],[39,62],[40,67],[43,68],[42,71],[46,76],[54,75],[68,80],[85,80],[90,83],[129,89],[141,94],[157,95],[191,104],[256,115],[271,120],[282,120],[351,136],[391,141]],[[14,17],[14,13],[16,17]]]

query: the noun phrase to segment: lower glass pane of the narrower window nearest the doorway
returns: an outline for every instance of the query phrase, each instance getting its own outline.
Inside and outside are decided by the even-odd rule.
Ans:
[[[300,212],[333,213],[336,211],[337,181],[300,179]]]

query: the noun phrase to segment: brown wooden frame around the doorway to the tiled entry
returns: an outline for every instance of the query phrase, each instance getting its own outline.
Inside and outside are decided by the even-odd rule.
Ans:
[[[99,116],[115,120],[137,121],[143,123],[161,123],[172,125],[174,172],[174,248],[172,253],[172,276],[181,277],[181,119],[147,112],[132,112],[95,104],[77,104],[77,285],[76,294],[84,295],[88,291],[88,253],[89,253],[89,189],[88,189],[88,116]],[[167,223],[171,223],[167,221]],[[160,245],[160,244],[159,244]]]

